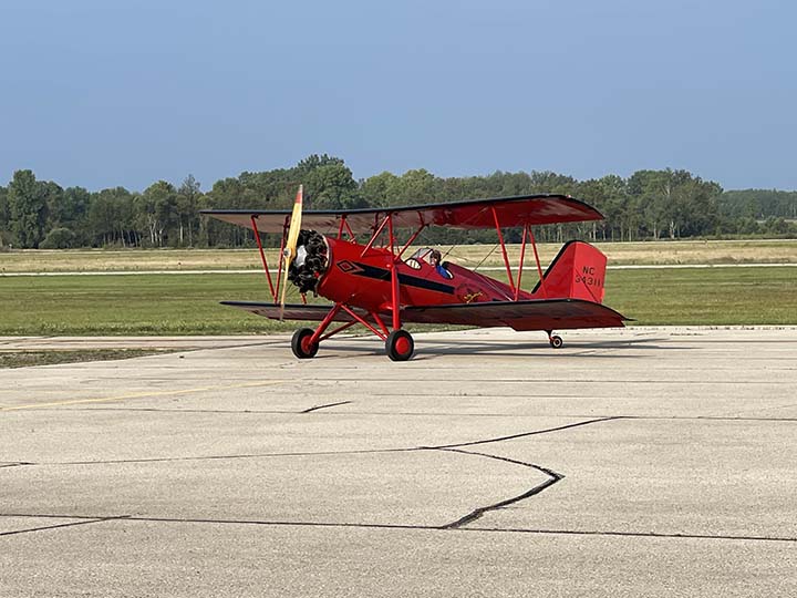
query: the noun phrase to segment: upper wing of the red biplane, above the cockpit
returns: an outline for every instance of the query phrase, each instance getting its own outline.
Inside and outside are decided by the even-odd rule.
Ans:
[[[493,210],[495,210],[495,216]],[[261,233],[282,233],[290,220],[290,210],[203,209],[201,214],[246,228],[257,219]],[[416,228],[423,225],[451,228],[494,228],[495,217],[501,227],[601,220],[603,215],[592,206],[565,195],[522,195],[495,199],[470,199],[448,204],[428,204],[396,208],[308,210],[302,227],[313,230],[337,230],[341,219],[354,234],[372,231],[389,214],[394,227]]]

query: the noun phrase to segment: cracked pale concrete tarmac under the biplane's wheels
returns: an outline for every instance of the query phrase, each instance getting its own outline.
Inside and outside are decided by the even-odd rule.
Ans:
[[[797,596],[797,328],[0,370],[0,597]]]

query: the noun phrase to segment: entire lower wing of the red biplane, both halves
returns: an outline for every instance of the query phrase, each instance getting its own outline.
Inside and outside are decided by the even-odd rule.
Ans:
[[[252,301],[222,301],[258,316],[279,318],[279,306]],[[320,321],[329,313],[330,305],[287,305],[286,320]],[[364,319],[364,310],[354,308]],[[387,313],[383,313],[387,317]],[[334,321],[350,322],[353,318],[340,311]],[[486,301],[484,303],[454,303],[447,306],[407,306],[402,308],[402,320],[413,323],[446,323],[491,328],[508,326],[515,330],[567,330],[575,328],[615,328],[628,321],[621,313],[601,303],[583,299],[539,299],[531,301]]]

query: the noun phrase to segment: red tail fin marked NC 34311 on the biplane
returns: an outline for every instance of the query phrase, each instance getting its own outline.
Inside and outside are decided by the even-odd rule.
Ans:
[[[605,256],[597,247],[570,241],[548,266],[542,285],[538,282],[532,295],[542,299],[586,299],[601,303],[605,262]]]

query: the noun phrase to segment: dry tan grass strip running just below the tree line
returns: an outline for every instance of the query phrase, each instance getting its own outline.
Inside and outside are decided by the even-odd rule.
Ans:
[[[797,264],[795,240],[734,241],[645,241],[599,243],[611,265],[639,264]],[[541,244],[540,260],[548,264],[559,251],[560,244]],[[448,248],[442,247],[446,251]],[[490,254],[491,251],[491,254]],[[508,246],[513,262],[519,247]],[[407,254],[408,255],[408,254]],[[503,265],[500,251],[493,246],[462,245],[447,259],[463,266],[475,266],[487,256],[484,266]],[[267,251],[272,267],[277,266],[277,250]],[[534,262],[531,251],[527,254]],[[218,270],[257,269],[257,249],[157,249],[157,250],[22,250],[0,252],[0,274],[63,272],[63,271],[135,271],[135,270]]]

